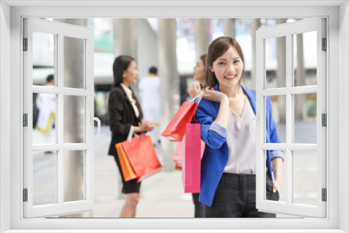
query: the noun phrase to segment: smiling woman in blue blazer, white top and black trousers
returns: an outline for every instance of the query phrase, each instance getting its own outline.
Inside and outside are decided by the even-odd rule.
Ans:
[[[207,85],[195,112],[205,142],[200,202],[209,218],[275,218],[255,208],[255,137],[249,122],[255,117],[255,90],[241,85],[244,54],[237,41],[219,37],[207,53]],[[266,142],[280,143],[266,98]],[[255,124],[253,125],[255,128]],[[282,151],[267,151],[267,199],[279,200]],[[273,170],[274,169],[274,170]]]

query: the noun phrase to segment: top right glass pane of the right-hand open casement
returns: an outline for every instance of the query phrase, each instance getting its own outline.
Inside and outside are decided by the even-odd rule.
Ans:
[[[295,87],[316,85],[317,32],[300,33],[292,37]]]

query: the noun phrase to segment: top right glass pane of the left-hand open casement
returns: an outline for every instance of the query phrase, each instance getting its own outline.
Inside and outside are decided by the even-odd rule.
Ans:
[[[64,36],[64,87],[84,89],[85,40]]]

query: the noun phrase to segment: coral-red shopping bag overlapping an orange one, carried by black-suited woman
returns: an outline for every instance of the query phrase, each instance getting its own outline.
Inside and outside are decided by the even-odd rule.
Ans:
[[[131,140],[121,142],[121,146],[137,175],[138,182],[161,171],[163,166],[156,156],[150,136],[142,133]]]

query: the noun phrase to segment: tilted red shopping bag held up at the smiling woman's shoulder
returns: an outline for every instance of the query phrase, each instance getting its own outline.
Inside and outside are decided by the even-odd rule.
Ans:
[[[172,142],[180,142],[186,134],[186,124],[191,122],[196,107],[198,103],[184,101],[161,135]]]

